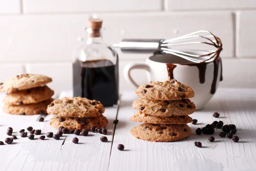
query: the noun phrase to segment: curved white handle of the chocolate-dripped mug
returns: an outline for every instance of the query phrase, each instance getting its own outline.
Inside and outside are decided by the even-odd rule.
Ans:
[[[136,88],[140,87],[135,81],[134,79],[131,77],[131,70],[146,70],[148,72],[150,72],[150,68],[147,64],[140,64],[140,63],[132,63],[132,64],[127,64],[124,68],[124,76],[126,81],[131,84],[134,85]]]

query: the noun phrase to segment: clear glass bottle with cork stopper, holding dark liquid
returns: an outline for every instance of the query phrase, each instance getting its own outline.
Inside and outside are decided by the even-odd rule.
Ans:
[[[118,55],[102,40],[102,20],[88,21],[87,42],[74,53],[73,96],[112,106],[119,98]]]

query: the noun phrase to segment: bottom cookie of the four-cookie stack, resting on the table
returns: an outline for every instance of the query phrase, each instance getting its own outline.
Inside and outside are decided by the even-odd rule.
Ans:
[[[191,134],[188,125],[141,124],[131,129],[138,139],[154,142],[170,142],[186,138]]]

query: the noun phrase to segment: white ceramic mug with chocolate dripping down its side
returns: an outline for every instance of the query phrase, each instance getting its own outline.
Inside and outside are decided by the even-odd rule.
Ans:
[[[173,69],[173,78],[190,86],[195,91],[195,97],[191,98],[191,100],[195,103],[197,110],[202,109],[212,98],[220,82],[222,72],[221,58],[219,57],[214,62],[212,61],[205,64],[205,67],[202,64],[198,67],[198,65],[191,66],[189,61],[175,55],[153,55],[146,59],[146,64],[134,63],[126,65],[124,68],[124,76],[128,83],[135,87],[139,87],[139,85],[131,77],[131,70],[134,69],[146,70],[148,81],[166,81],[169,78],[169,74],[172,75],[172,73],[167,70],[167,64],[171,64],[171,66],[174,64],[176,66],[174,66],[175,68]],[[205,79],[203,79],[204,68]],[[199,75],[199,69],[201,70],[201,75]],[[214,83],[214,75],[216,83]],[[200,83],[200,81],[204,81],[204,83]]]

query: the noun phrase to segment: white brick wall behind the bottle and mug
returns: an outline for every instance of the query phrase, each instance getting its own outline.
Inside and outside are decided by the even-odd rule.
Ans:
[[[72,53],[80,45],[77,37],[86,36],[92,14],[104,20],[104,39],[110,44],[209,30],[223,42],[221,87],[256,87],[255,0],[1,0],[0,82],[41,73],[53,78],[49,86],[56,92],[72,89]],[[117,51],[120,90],[133,90],[122,70],[149,55]],[[146,82],[145,72],[134,72],[135,80]]]

